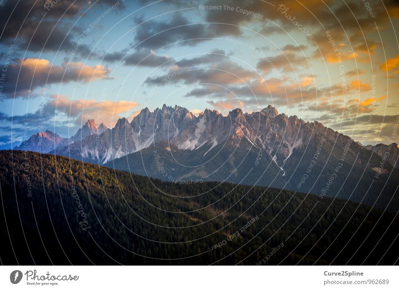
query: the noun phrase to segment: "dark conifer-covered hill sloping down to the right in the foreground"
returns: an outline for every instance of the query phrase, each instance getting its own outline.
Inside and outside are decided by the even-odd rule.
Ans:
[[[162,182],[24,151],[0,151],[0,164],[4,265],[392,265],[399,257],[397,216],[346,200]]]

